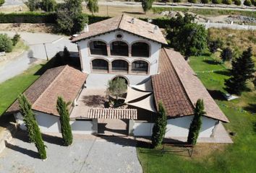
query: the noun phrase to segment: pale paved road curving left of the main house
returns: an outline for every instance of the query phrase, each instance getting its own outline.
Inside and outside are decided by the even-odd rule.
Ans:
[[[10,37],[15,34],[14,32],[0,33],[7,33]],[[30,50],[9,61],[4,66],[0,66],[0,82],[22,73],[37,59],[46,60],[46,52],[48,58],[54,57],[56,53],[63,50],[64,46],[67,46],[69,51],[77,52],[77,45],[70,43],[68,37],[46,33],[19,32],[19,34],[22,40],[30,46]],[[43,43],[46,45],[46,50]]]

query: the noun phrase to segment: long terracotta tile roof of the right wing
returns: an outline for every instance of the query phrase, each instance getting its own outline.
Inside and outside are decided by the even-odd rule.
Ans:
[[[175,78],[173,76],[174,74],[176,76]],[[169,84],[170,82],[174,84]],[[172,117],[177,116],[174,111],[171,110],[175,110],[174,106],[171,107],[170,105],[172,102],[182,102],[180,105],[176,105],[176,109],[181,109],[180,111],[184,109],[184,114],[180,115],[184,116],[192,113],[192,108],[194,108],[197,99],[203,99],[205,103],[205,116],[223,122],[229,122],[226,115],[223,114],[207,89],[205,89],[200,79],[195,76],[194,71],[184,60],[184,57],[174,50],[161,50],[160,74],[153,76],[153,86],[156,87],[156,89],[154,89],[155,95],[158,95],[156,101],[163,100],[164,105],[168,107],[166,108],[168,115]],[[176,86],[176,91],[174,90],[174,86]],[[183,93],[176,94],[177,90]],[[178,97],[174,97],[173,94],[176,94]],[[171,100],[171,102],[169,100]]]

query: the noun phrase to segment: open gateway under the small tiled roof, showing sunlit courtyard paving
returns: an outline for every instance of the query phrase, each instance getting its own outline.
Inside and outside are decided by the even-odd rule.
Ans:
[[[98,134],[106,136],[128,136],[129,120],[98,119]]]

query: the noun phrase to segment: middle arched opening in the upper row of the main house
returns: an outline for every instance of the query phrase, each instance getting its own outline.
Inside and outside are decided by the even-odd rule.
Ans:
[[[110,45],[111,56],[128,56],[128,45],[122,41],[114,41]]]

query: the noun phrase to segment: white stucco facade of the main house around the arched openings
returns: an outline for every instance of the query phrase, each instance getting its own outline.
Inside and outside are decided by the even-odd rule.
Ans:
[[[104,40],[107,44],[111,43],[113,40],[116,40],[116,34],[121,33],[123,35],[123,38],[121,40],[124,40],[127,44],[131,45],[132,43],[136,41],[145,41],[150,45],[150,57],[145,58],[145,57],[124,57],[124,56],[91,56],[89,55],[89,49],[88,48],[88,43],[90,43],[91,40]],[[144,39],[142,37],[138,37],[137,35],[132,35],[129,34],[128,32],[124,31],[114,31],[107,33],[105,35],[99,35],[96,37],[93,37],[89,40],[81,40],[80,42],[77,42],[77,45],[80,46],[80,52],[81,52],[81,61],[82,61],[82,71],[91,74],[91,61],[94,58],[105,58],[107,61],[111,62],[114,59],[125,59],[129,63],[132,63],[132,61],[135,60],[145,60],[148,61],[149,63],[149,74],[121,74],[123,76],[126,76],[131,84],[137,84],[140,83],[142,80],[147,79],[148,76],[157,74],[158,73],[158,58],[160,55],[160,50],[161,50],[161,44],[153,42],[151,40]],[[87,79],[87,84],[88,87],[93,86],[93,83],[95,82],[95,87],[102,88],[105,86],[108,80],[110,80],[113,76],[119,75],[120,73],[114,73],[112,72],[111,74],[105,73],[106,76],[103,74],[99,74],[96,72],[93,72],[93,74],[98,74],[98,75],[89,75]],[[97,77],[100,77],[97,79]],[[102,81],[103,82],[98,82]]]

